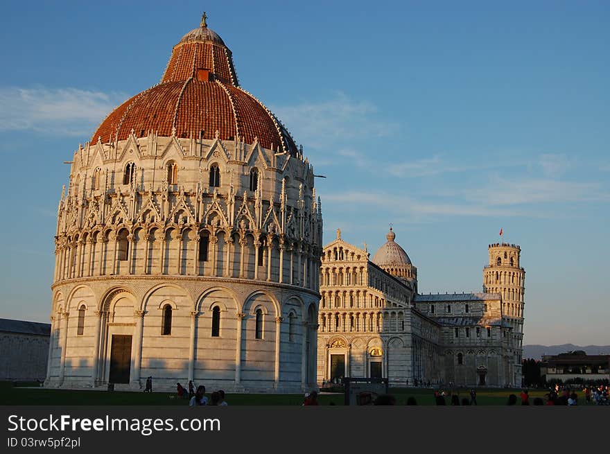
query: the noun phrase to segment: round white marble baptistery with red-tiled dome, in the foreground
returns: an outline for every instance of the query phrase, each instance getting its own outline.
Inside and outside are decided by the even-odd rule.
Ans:
[[[71,161],[45,386],[315,387],[313,166],[207,26]]]

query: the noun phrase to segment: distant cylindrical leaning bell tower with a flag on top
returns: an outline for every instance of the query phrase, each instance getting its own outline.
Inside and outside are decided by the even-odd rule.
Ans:
[[[483,268],[483,291],[502,295],[502,318],[512,326],[509,350],[514,356],[514,385],[521,385],[523,353],[523,306],[525,270],[521,267],[521,247],[508,243],[489,245],[489,265]]]

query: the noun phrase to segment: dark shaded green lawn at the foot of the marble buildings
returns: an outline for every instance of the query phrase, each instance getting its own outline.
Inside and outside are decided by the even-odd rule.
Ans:
[[[1,405],[188,405],[186,399],[177,399],[171,392],[107,392],[89,390],[51,390],[32,383],[0,382]],[[390,389],[397,405],[405,405],[408,397],[415,397],[418,405],[435,405],[433,390],[424,388]],[[469,390],[454,390],[460,396],[469,397]],[[477,389],[478,405],[505,405],[509,394],[516,394],[518,403],[521,390]],[[543,397],[546,390],[530,390],[530,403],[534,397]],[[209,396],[209,392],[207,393]],[[584,395],[578,392],[579,403],[584,404]],[[343,405],[342,394],[320,394],[320,405]],[[302,394],[227,394],[229,405],[301,405]],[[446,398],[449,404],[450,399]]]

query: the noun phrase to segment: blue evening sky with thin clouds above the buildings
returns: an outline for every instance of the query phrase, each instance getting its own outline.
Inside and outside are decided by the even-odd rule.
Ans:
[[[49,322],[79,143],[203,10],[315,167],[324,243],[396,241],[421,293],[521,245],[524,344],[610,344],[610,2],[4,1],[0,317]]]

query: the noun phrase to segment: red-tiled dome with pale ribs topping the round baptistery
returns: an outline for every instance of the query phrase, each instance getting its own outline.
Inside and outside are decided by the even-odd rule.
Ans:
[[[238,85],[232,54],[205,17],[173,48],[159,85],[133,96],[111,112],[92,142],[127,139],[149,131],[160,136],[239,139],[297,154],[288,130],[270,110]]]

